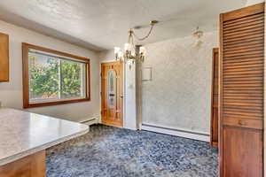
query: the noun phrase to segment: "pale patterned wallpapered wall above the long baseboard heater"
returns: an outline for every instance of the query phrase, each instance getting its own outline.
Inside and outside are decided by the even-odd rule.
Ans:
[[[197,49],[192,36],[145,45],[152,81],[143,81],[143,123],[209,134],[212,49],[218,32],[203,36]]]

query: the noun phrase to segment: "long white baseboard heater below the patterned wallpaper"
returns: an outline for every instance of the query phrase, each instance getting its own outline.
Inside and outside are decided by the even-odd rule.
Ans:
[[[143,123],[141,129],[160,133],[160,134],[176,135],[176,136],[198,140],[202,142],[209,142],[210,140],[209,135],[205,133],[194,132],[194,131],[184,130],[184,129],[177,129],[177,128],[172,128],[172,127],[160,127],[157,125],[152,125],[152,124],[147,124],[147,123]]]

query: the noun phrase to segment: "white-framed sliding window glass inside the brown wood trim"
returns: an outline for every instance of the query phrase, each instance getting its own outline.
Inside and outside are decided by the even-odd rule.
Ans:
[[[28,51],[30,103],[86,97],[86,63],[38,50]]]

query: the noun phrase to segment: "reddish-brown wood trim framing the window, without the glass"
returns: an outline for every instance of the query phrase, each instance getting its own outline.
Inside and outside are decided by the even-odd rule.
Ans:
[[[82,60],[86,63],[86,89],[85,93],[86,96],[81,99],[71,99],[71,100],[61,100],[61,101],[54,101],[54,102],[45,102],[45,103],[35,103],[31,104],[29,102],[29,84],[28,84],[28,50],[42,50],[44,52],[50,52],[59,56],[67,57],[67,58],[76,58],[78,60]],[[58,50],[51,50],[47,48],[43,48],[40,46],[36,46],[33,44],[29,44],[26,42],[22,42],[22,82],[23,82],[23,108],[33,108],[33,107],[42,107],[42,106],[49,106],[49,105],[58,105],[58,104],[74,104],[79,102],[89,102],[90,101],[90,58],[82,58],[72,54],[68,54]]]

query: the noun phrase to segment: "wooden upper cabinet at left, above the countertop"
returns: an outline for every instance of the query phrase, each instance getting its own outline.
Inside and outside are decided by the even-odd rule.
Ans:
[[[0,81],[9,81],[9,36],[0,33]]]

